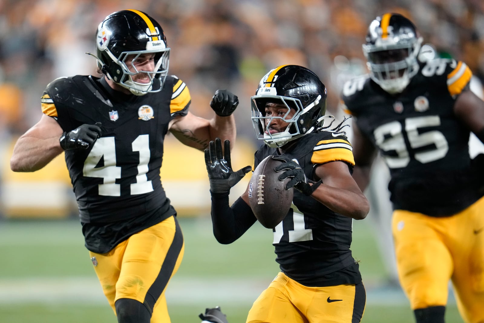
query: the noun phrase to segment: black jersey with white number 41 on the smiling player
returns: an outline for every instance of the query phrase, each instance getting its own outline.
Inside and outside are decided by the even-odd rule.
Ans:
[[[142,96],[114,91],[104,78],[92,76],[47,85],[42,110],[64,131],[102,123],[91,149],[65,151],[81,222],[91,224],[83,228],[91,251],[106,252],[101,245],[115,246],[176,213],[160,180],[163,141],[170,120],[186,115],[189,104],[188,88],[173,76],[162,91]]]

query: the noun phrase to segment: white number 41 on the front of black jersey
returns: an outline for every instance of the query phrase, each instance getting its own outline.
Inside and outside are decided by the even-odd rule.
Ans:
[[[153,185],[146,176],[151,155],[149,135],[139,135],[131,147],[133,152],[139,152],[138,175],[136,183],[130,185],[131,195],[149,193],[153,191]],[[96,167],[101,158],[104,159],[104,166]],[[83,175],[103,179],[103,184],[98,185],[99,195],[121,196],[121,185],[116,184],[116,179],[121,178],[121,167],[116,166],[114,137],[96,140],[84,161]]]

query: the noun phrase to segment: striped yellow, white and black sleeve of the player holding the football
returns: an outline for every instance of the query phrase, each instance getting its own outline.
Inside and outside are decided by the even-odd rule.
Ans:
[[[344,161],[351,166],[355,165],[353,148],[346,136],[332,132],[331,136],[319,140],[313,148],[311,162],[313,164],[324,164],[337,160]]]

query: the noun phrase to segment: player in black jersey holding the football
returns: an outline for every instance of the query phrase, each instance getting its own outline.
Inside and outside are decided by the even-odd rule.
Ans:
[[[279,180],[291,178],[293,208],[275,228],[273,245],[281,272],[254,302],[247,323],[360,322],[365,289],[351,255],[351,224],[369,203],[351,177],[348,139],[322,125],[326,88],[307,68],[282,65],[260,81],[252,96],[252,121],[264,143],[254,167],[265,157],[282,161]],[[324,124],[324,123],[323,123]],[[331,124],[331,123],[330,123]],[[230,244],[257,220],[249,206],[252,190],[229,205],[230,188],[251,170],[233,171],[228,140],[210,142],[205,162],[212,194],[213,233]]]

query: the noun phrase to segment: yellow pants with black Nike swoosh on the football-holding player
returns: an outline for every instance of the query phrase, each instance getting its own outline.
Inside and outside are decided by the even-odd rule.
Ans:
[[[279,273],[252,305],[246,323],[358,323],[363,284],[307,287]]]

